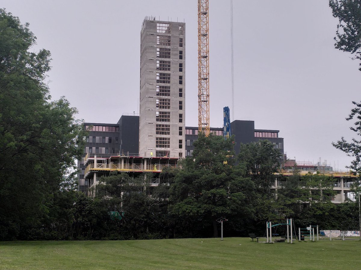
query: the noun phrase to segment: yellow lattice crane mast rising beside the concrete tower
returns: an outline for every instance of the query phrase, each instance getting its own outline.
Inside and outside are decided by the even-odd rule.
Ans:
[[[209,135],[208,0],[198,0],[198,130]]]

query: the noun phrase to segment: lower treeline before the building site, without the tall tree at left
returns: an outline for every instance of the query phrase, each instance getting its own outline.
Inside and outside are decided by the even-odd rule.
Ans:
[[[357,229],[354,202],[333,204],[333,180],[321,174],[282,177],[271,192],[277,149],[268,141],[241,145],[234,156],[233,138],[200,135],[192,157],[160,175],[102,177],[95,197],[74,190],[56,192],[51,222],[37,222],[22,234],[3,239],[155,239],[217,237],[216,219],[226,217],[225,236],[264,235],[266,220],[292,217],[297,227]],[[116,216],[114,214],[119,214]],[[279,233],[282,231],[280,229]]]

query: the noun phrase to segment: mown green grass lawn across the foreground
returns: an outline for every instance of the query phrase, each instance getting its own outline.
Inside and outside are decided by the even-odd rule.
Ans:
[[[265,240],[265,239],[260,239]],[[0,269],[360,269],[359,240],[0,242]]]

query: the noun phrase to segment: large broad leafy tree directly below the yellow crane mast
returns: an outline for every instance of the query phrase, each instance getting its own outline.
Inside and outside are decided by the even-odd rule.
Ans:
[[[217,237],[217,221],[225,216],[227,226],[242,230],[253,218],[255,185],[244,177],[245,167],[234,165],[233,138],[199,134],[192,157],[181,163],[170,186],[170,210],[191,237]],[[243,227],[244,228],[244,227]]]

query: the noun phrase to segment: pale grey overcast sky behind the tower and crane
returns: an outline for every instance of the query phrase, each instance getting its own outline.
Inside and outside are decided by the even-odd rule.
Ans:
[[[230,1],[209,1],[210,122],[232,105]],[[198,125],[197,1],[17,1],[2,7],[30,23],[52,53],[53,99],[66,96],[86,122],[116,123],[139,109],[140,30],[146,15],[186,22],[186,125]],[[345,117],[361,100],[361,72],[334,49],[337,19],[327,0],[235,0],[235,119],[277,129],[288,157],[321,157],[344,170],[351,160],[331,142],[355,132]],[[232,115],[232,112],[231,112]]]

